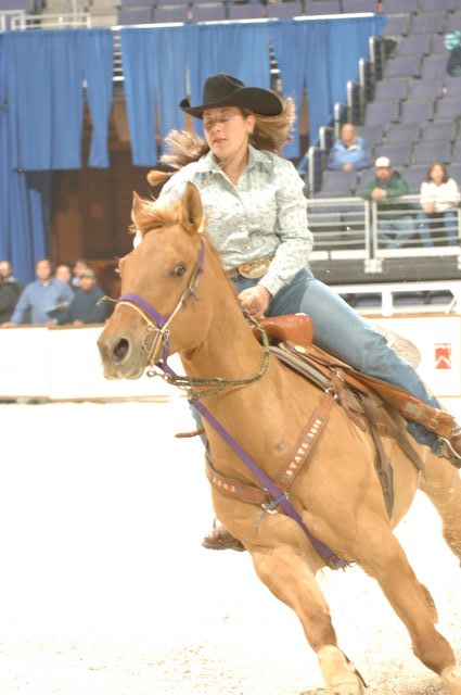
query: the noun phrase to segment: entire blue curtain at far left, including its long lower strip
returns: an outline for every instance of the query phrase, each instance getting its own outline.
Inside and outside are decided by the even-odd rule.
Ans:
[[[108,166],[112,76],[110,29],[0,35],[0,258],[22,282],[48,253],[51,170],[81,167],[85,86],[88,163]]]

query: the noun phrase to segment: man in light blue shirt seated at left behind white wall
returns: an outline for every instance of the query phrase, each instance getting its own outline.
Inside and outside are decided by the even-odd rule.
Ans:
[[[23,324],[28,311],[31,324],[49,324],[53,320],[53,314],[62,311],[72,301],[72,289],[51,277],[51,263],[48,258],[37,261],[36,274],[37,280],[26,285],[7,325]],[[55,317],[53,323],[56,323]]]

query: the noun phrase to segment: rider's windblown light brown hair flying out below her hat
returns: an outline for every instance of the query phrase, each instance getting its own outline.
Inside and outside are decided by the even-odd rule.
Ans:
[[[249,135],[249,143],[257,150],[269,150],[279,154],[283,146],[292,139],[291,131],[295,122],[295,103],[291,97],[282,101],[282,111],[278,116],[261,116],[246,109],[239,109],[243,116],[255,116],[255,127]],[[196,162],[209,152],[206,141],[187,130],[171,130],[165,138],[167,152],[161,156],[162,164],[180,169],[185,164]],[[170,176],[165,172],[152,170],[148,180],[156,186]]]

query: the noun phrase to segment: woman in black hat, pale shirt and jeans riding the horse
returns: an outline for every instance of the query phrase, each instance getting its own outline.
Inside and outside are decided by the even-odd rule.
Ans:
[[[389,381],[424,403],[440,408],[414,369],[389,348],[386,339],[308,266],[312,233],[307,226],[303,181],[280,152],[294,122],[292,99],[246,87],[231,75],[205,81],[203,103],[180,108],[203,121],[205,141],[171,132],[170,154],[163,160],[180,168],[165,184],[159,202],[178,201],[187,181],[201,193],[208,233],[234,282],[244,311],[255,318],[304,313],[311,317],[316,343],[353,367]],[[154,173],[153,173],[154,174]],[[154,178],[155,177],[155,178]],[[157,181],[154,176],[151,181]],[[436,455],[447,442],[417,422],[409,431]],[[461,456],[461,429],[456,427],[448,454]],[[206,547],[234,547],[221,528],[204,540]]]

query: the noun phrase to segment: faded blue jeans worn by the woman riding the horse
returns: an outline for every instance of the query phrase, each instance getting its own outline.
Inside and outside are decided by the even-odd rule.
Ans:
[[[234,281],[238,292],[257,285],[258,280],[240,278]],[[336,292],[309,269],[297,273],[293,280],[272,298],[268,316],[308,314],[313,324],[315,343],[356,369],[394,383],[424,403],[439,408],[419,375],[388,346],[386,339],[357,314]],[[438,453],[438,439],[417,422],[409,430],[421,443]]]

